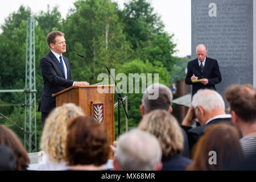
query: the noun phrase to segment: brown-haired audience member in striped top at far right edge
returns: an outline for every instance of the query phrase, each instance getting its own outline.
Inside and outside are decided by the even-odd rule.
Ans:
[[[250,84],[231,85],[226,89],[234,126],[242,133],[240,139],[243,155],[256,153],[256,91]]]

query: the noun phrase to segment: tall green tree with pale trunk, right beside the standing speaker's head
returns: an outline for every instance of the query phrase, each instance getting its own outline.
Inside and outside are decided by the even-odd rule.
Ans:
[[[117,3],[109,0],[88,0],[77,1],[74,5],[75,9],[64,24],[67,55],[75,65],[80,65],[72,68],[74,78],[86,78],[87,81],[95,82],[98,73],[106,72],[105,68],[82,60],[76,55],[78,51],[114,68],[129,60],[131,49],[122,32]]]

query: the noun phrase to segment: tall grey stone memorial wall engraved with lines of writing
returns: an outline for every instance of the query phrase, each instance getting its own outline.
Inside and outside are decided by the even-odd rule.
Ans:
[[[222,81],[216,89],[224,95],[230,84],[255,85],[255,3],[253,0],[192,0],[192,59],[196,46],[207,46],[216,59]],[[255,32],[255,33],[254,33]]]

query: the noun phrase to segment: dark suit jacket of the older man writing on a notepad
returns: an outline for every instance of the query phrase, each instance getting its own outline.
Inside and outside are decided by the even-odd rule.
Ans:
[[[193,83],[191,81],[192,75],[195,75],[199,79],[207,78],[208,84],[204,85],[200,82]],[[192,85],[192,96],[199,89],[213,89],[216,90],[215,84],[221,82],[221,73],[218,68],[218,62],[215,59],[211,59],[207,57],[205,59],[204,72],[201,73],[201,69],[199,67],[198,59],[194,59],[188,62],[188,72],[187,77],[185,78],[185,83],[188,85]]]

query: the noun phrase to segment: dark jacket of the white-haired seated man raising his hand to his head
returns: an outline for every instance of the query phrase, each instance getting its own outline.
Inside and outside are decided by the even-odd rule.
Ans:
[[[190,153],[193,150],[193,146],[195,146],[196,142],[204,134],[204,130],[208,126],[214,125],[214,124],[217,124],[217,123],[222,123],[222,122],[226,122],[226,123],[229,123],[230,125],[232,125],[231,118],[217,118],[217,119],[213,119],[212,121],[207,123],[207,125],[197,126],[197,127],[194,127],[194,128],[181,125],[181,127],[186,131],[187,136],[188,136],[188,145],[189,145]]]

